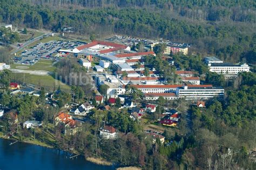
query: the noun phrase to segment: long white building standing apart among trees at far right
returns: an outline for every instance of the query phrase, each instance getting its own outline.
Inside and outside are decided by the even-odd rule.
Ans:
[[[211,72],[218,74],[238,74],[239,72],[249,72],[250,67],[247,64],[242,65],[225,65],[225,64],[208,64]]]

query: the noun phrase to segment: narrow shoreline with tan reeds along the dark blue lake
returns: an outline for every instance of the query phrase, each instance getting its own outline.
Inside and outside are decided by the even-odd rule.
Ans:
[[[9,141],[18,141],[18,142],[22,142],[24,144],[31,144],[31,145],[46,147],[46,148],[50,148],[50,149],[59,149],[59,148],[56,148],[56,147],[53,147],[53,146],[40,145],[40,144],[37,144],[35,142],[19,141],[19,140],[15,140],[15,138],[3,138],[3,135],[0,138],[4,139],[4,140],[9,140]],[[65,150],[62,150],[62,151],[65,151]],[[70,152],[70,151],[65,151],[65,152],[69,152],[69,153],[72,153],[72,154],[77,154],[75,152]],[[84,156],[84,155],[81,155],[81,154],[78,154],[78,155]],[[103,166],[112,166],[113,165],[113,163],[110,162],[110,161],[107,161],[107,160],[104,160],[104,159],[100,159],[100,158],[96,158],[96,157],[88,157],[88,158],[85,158],[85,160],[89,161],[89,162],[91,162],[93,164],[96,164],[96,165],[103,165]]]

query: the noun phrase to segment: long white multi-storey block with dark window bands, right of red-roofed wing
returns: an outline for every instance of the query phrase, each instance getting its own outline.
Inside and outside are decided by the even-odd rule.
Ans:
[[[177,88],[176,95],[186,100],[224,98],[224,89],[212,85],[183,86]]]

